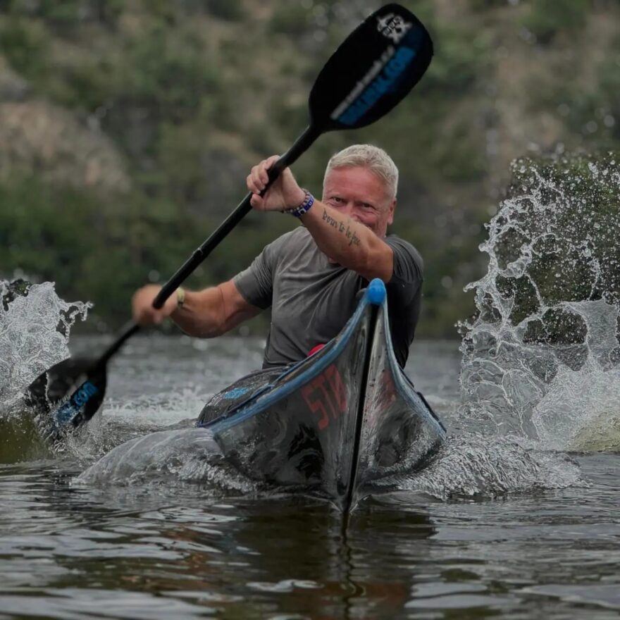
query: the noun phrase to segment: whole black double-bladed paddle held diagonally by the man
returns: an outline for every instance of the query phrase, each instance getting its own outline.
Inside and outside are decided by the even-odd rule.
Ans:
[[[297,161],[322,133],[356,129],[389,112],[420,80],[433,56],[426,28],[406,8],[387,4],[371,14],[345,39],[318,74],[309,97],[310,123],[269,171],[269,185]],[[264,192],[263,192],[264,193]],[[163,285],[153,307],[185,281],[215,247],[252,209],[247,194],[235,211]],[[97,412],[106,390],[106,364],[140,329],[130,322],[97,360],[68,359],[37,378],[29,388],[30,402],[41,407],[49,437],[79,426]]]

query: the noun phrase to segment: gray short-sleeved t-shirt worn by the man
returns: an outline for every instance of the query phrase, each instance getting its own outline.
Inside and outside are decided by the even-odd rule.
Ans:
[[[394,252],[386,285],[396,359],[404,366],[420,314],[423,263],[416,249],[395,235],[384,238]],[[268,244],[233,282],[253,306],[271,306],[271,328],[263,368],[304,359],[342,330],[368,285],[359,273],[330,263],[300,226]]]

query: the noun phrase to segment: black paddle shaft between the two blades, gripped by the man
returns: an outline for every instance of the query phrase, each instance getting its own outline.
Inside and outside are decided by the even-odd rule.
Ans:
[[[288,168],[292,163],[299,159],[299,156],[304,154],[304,152],[311,147],[314,141],[318,138],[318,136],[323,133],[321,128],[316,128],[314,125],[308,125],[302,135],[300,135],[297,140],[295,140],[294,144],[286,153],[275,162],[273,166],[268,171],[269,181],[267,183],[267,187],[261,195],[264,194],[269,187],[273,184],[273,182],[280,176],[282,171],[285,168]],[[166,284],[161,287],[161,290],[153,300],[153,307],[157,310],[163,308],[163,304],[166,303],[168,297],[175,292],[175,290],[182,285],[182,283],[187,280],[187,278],[192,275],[194,270],[199,266],[204,259],[206,259],[211,252],[213,252],[216,247],[228,236],[235,226],[242,221],[242,219],[247,216],[249,211],[252,211],[252,205],[250,204],[250,200],[252,199],[252,193],[248,193],[247,196],[237,205],[237,208],[230,213],[230,215],[216,228],[215,231],[209,236],[207,240],[202,243],[197,249],[194,250],[192,256],[190,256],[185,263],[178,269],[178,271],[166,282]],[[118,349],[122,347],[125,342],[132,337],[135,333],[140,331],[140,325],[138,325],[135,321],[130,321],[126,323],[123,329],[120,332],[120,335],[116,338],[116,340],[106,349],[103,355],[97,360],[94,364],[95,368],[101,368],[105,366],[109,359],[118,352]]]

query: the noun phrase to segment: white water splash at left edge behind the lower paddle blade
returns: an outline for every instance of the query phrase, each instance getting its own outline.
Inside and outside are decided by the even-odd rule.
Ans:
[[[47,368],[68,358],[71,327],[85,320],[89,304],[64,302],[45,282],[14,294],[0,282],[0,418],[16,415],[25,389]]]

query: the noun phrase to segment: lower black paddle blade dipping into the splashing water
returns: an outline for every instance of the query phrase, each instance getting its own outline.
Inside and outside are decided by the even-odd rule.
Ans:
[[[46,439],[56,440],[89,421],[101,407],[106,383],[105,366],[91,359],[66,359],[39,376],[30,385],[27,401],[39,411]]]

